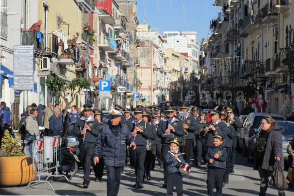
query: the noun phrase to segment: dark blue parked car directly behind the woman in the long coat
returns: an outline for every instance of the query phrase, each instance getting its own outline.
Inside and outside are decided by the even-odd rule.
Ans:
[[[276,121],[280,127],[284,128],[282,132],[283,135],[283,156],[285,163],[288,162],[287,146],[294,138],[294,122],[287,120],[277,120]],[[249,139],[249,153],[253,152],[255,149],[256,139],[259,137],[259,133],[262,130],[261,126],[258,128],[254,136]]]

